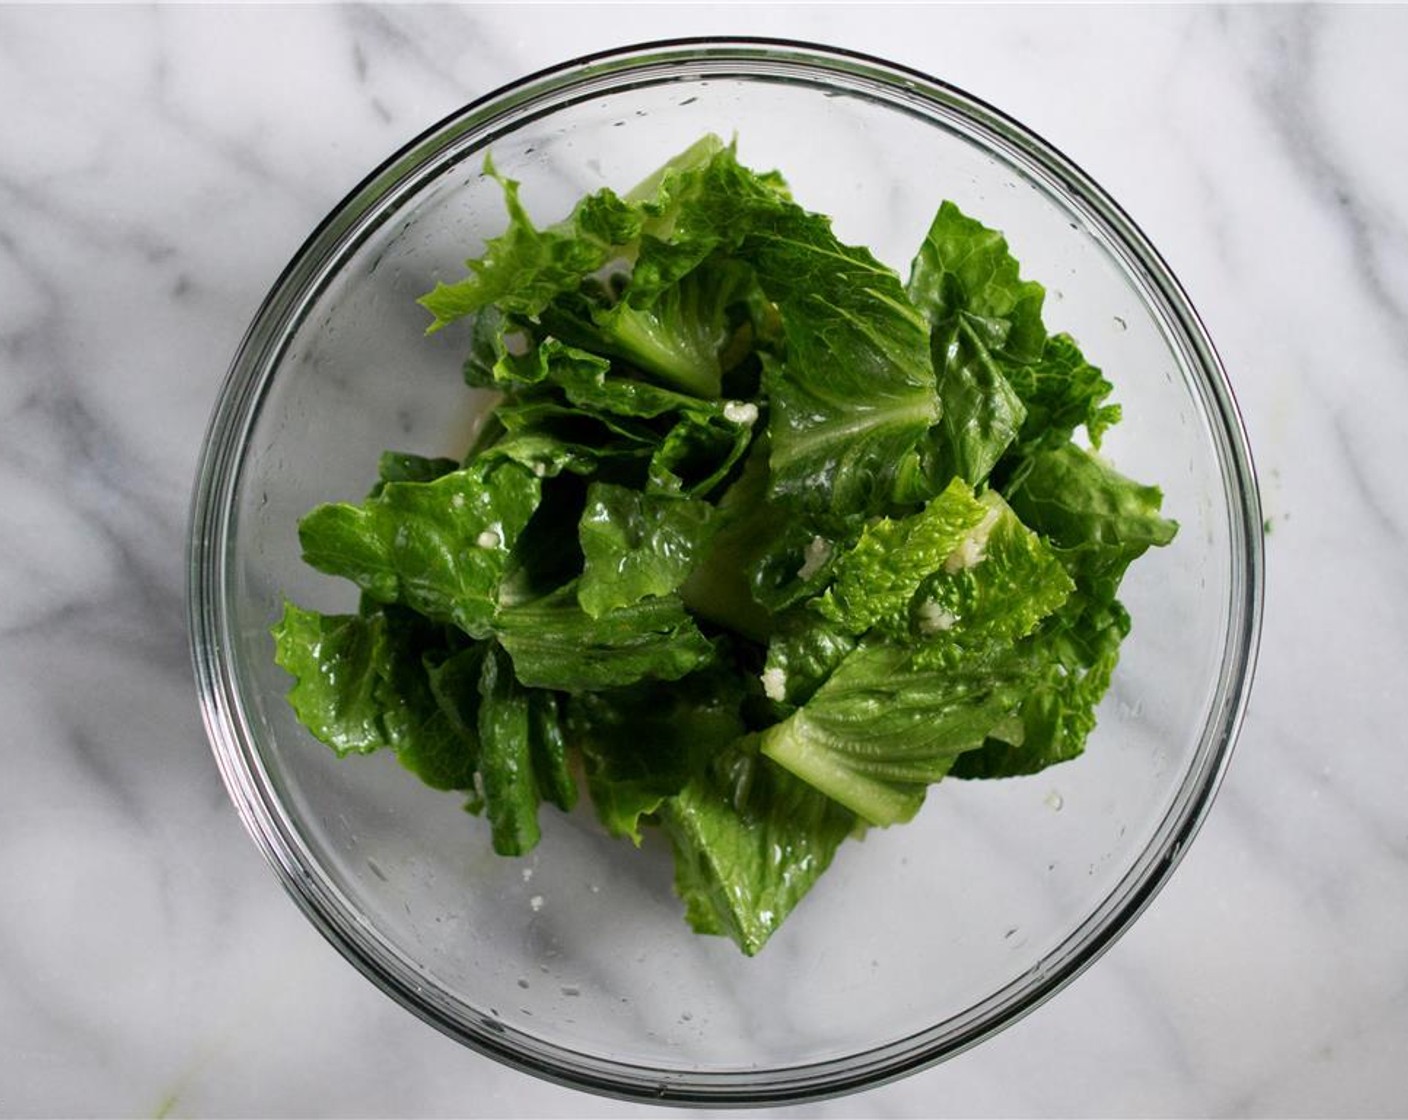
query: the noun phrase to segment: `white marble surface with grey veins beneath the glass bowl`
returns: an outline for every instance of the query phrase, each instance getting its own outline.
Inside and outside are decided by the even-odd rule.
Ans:
[[[0,1114],[607,1116],[401,1012],[297,913],[204,744],[207,414],[386,154],[574,54],[808,38],[983,96],[1163,249],[1273,533],[1222,796],[1133,930],[936,1069],[798,1116],[1408,1112],[1408,8],[0,7]]]

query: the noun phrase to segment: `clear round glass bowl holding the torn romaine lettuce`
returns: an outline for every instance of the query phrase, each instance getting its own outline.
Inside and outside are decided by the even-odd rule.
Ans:
[[[1181,523],[1122,587],[1135,626],[1086,754],[945,782],[910,824],[842,847],[756,958],[691,934],[669,857],[590,809],[490,852],[460,797],[386,755],[337,759],[284,702],[287,593],[349,610],[297,518],[359,500],[383,448],[463,451],[483,399],[465,334],[415,296],[501,231],[486,151],[555,220],[701,134],[777,168],[843,241],[901,272],[948,197],[1002,230],[1046,320],[1115,383],[1104,452]],[[693,1103],[835,1095],[950,1057],[1052,996],[1129,926],[1208,810],[1239,724],[1262,595],[1256,482],[1232,393],[1169,268],[1049,144],[932,77],[756,39],[649,44],[504,87],[376,169],[275,283],[206,442],[190,627],[231,797],[284,886],[366,976],[477,1051],[596,1092]],[[584,799],[583,799],[584,800]]]

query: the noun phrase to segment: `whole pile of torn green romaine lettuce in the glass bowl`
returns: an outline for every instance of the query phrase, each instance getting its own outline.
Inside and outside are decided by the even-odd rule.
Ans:
[[[686,919],[758,952],[846,837],[946,778],[1079,755],[1173,540],[1098,448],[1111,383],[1001,234],[939,206],[907,282],[705,137],[505,232],[421,303],[500,394],[300,524],[355,614],[287,604],[289,702],[459,790],[497,852],[584,779],[663,834]]]

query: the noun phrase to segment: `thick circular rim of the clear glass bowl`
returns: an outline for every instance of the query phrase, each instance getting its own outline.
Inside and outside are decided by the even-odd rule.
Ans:
[[[1048,961],[1026,976],[963,1012],[959,1028],[936,1034],[943,1024],[880,1044],[867,1051],[815,1064],[759,1071],[693,1071],[689,1074],[629,1065],[583,1055],[538,1040],[507,1023],[467,1019],[448,996],[425,985],[391,945],[360,921],[331,881],[310,865],[291,821],[263,771],[255,738],[244,718],[228,641],[225,561],[230,558],[234,499],[246,435],[258,402],[272,379],[277,340],[287,340],[298,310],[318,290],[320,279],[362,235],[365,218],[417,185],[417,172],[462,138],[493,138],[497,121],[528,106],[560,107],[570,92],[605,92],[624,75],[649,77],[642,85],[672,80],[666,68],[691,63],[710,77],[759,76],[759,66],[788,69],[801,77],[849,80],[903,94],[929,111],[959,114],[1022,166],[1039,170],[1101,232],[1159,297],[1166,327],[1188,349],[1190,366],[1201,376],[1222,482],[1229,500],[1232,571],[1226,618],[1226,651],[1211,699],[1202,738],[1180,796],[1166,813],[1156,838],[1086,920]],[[725,70],[724,68],[745,68]],[[748,69],[753,68],[753,69]],[[697,76],[697,75],[689,75]],[[611,85],[618,89],[618,85]],[[394,206],[390,207],[394,210]],[[403,144],[369,172],[314,227],[279,273],[239,342],[220,387],[207,427],[191,493],[187,537],[186,616],[191,662],[207,738],[230,797],[265,859],[314,927],[365,976],[414,1014],[472,1050],[522,1072],[605,1096],[698,1106],[783,1105],[838,1096],[898,1079],[950,1058],[1018,1021],[1094,964],[1149,906],[1181,861],[1205,820],[1226,772],[1255,675],[1263,604],[1263,537],[1260,499],[1246,430],[1226,372],[1191,300],[1171,269],[1133,220],[1055,145],[1001,110],[942,79],[886,59],[790,38],[686,37],[653,39],[596,51],[538,69],[466,103]],[[1197,778],[1197,780],[1193,780]],[[1052,959],[1056,958],[1056,959]],[[953,1023],[955,1020],[946,1020]]]

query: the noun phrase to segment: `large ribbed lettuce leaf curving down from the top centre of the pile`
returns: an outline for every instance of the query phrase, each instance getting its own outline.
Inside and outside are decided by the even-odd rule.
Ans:
[[[750,265],[781,318],[786,359],[765,375],[773,492],[819,517],[874,513],[898,459],[938,418],[924,317],[893,270],[732,148],[684,178],[669,239]]]

